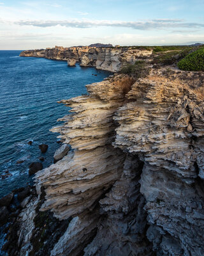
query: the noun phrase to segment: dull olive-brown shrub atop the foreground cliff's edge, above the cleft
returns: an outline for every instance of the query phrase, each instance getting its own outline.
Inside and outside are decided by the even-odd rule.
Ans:
[[[145,61],[135,61],[135,64],[128,64],[120,70],[120,74],[126,74],[134,77],[135,79],[146,77],[149,75],[149,68]]]

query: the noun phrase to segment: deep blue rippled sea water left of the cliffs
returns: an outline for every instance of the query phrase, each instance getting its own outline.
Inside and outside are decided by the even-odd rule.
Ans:
[[[66,61],[19,54],[0,51],[0,198],[31,181],[29,164],[39,157],[45,157],[43,168],[53,163],[58,134],[49,129],[68,113],[57,100],[86,93],[85,84],[110,75],[95,68],[68,67]],[[27,144],[29,140],[32,145]],[[40,143],[48,144],[45,154],[38,148]],[[24,163],[17,164],[20,159]],[[2,179],[6,173],[11,176]]]

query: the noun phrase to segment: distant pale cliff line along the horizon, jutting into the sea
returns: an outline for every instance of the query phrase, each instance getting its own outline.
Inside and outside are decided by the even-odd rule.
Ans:
[[[131,47],[57,47],[41,50],[23,51],[23,57],[43,57],[53,60],[66,60],[69,66],[79,62],[82,67],[96,67],[101,70],[117,72],[136,60],[148,60],[152,50],[131,49]]]

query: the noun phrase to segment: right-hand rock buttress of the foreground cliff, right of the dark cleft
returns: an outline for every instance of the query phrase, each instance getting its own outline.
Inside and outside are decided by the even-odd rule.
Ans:
[[[140,192],[157,255],[203,255],[203,74],[139,79],[117,111],[115,147],[145,163]]]

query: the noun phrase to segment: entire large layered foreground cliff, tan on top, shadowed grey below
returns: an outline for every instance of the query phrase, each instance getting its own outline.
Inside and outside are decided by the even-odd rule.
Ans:
[[[73,151],[36,175],[41,211],[73,218],[51,255],[203,255],[203,81],[152,69],[61,100]]]

